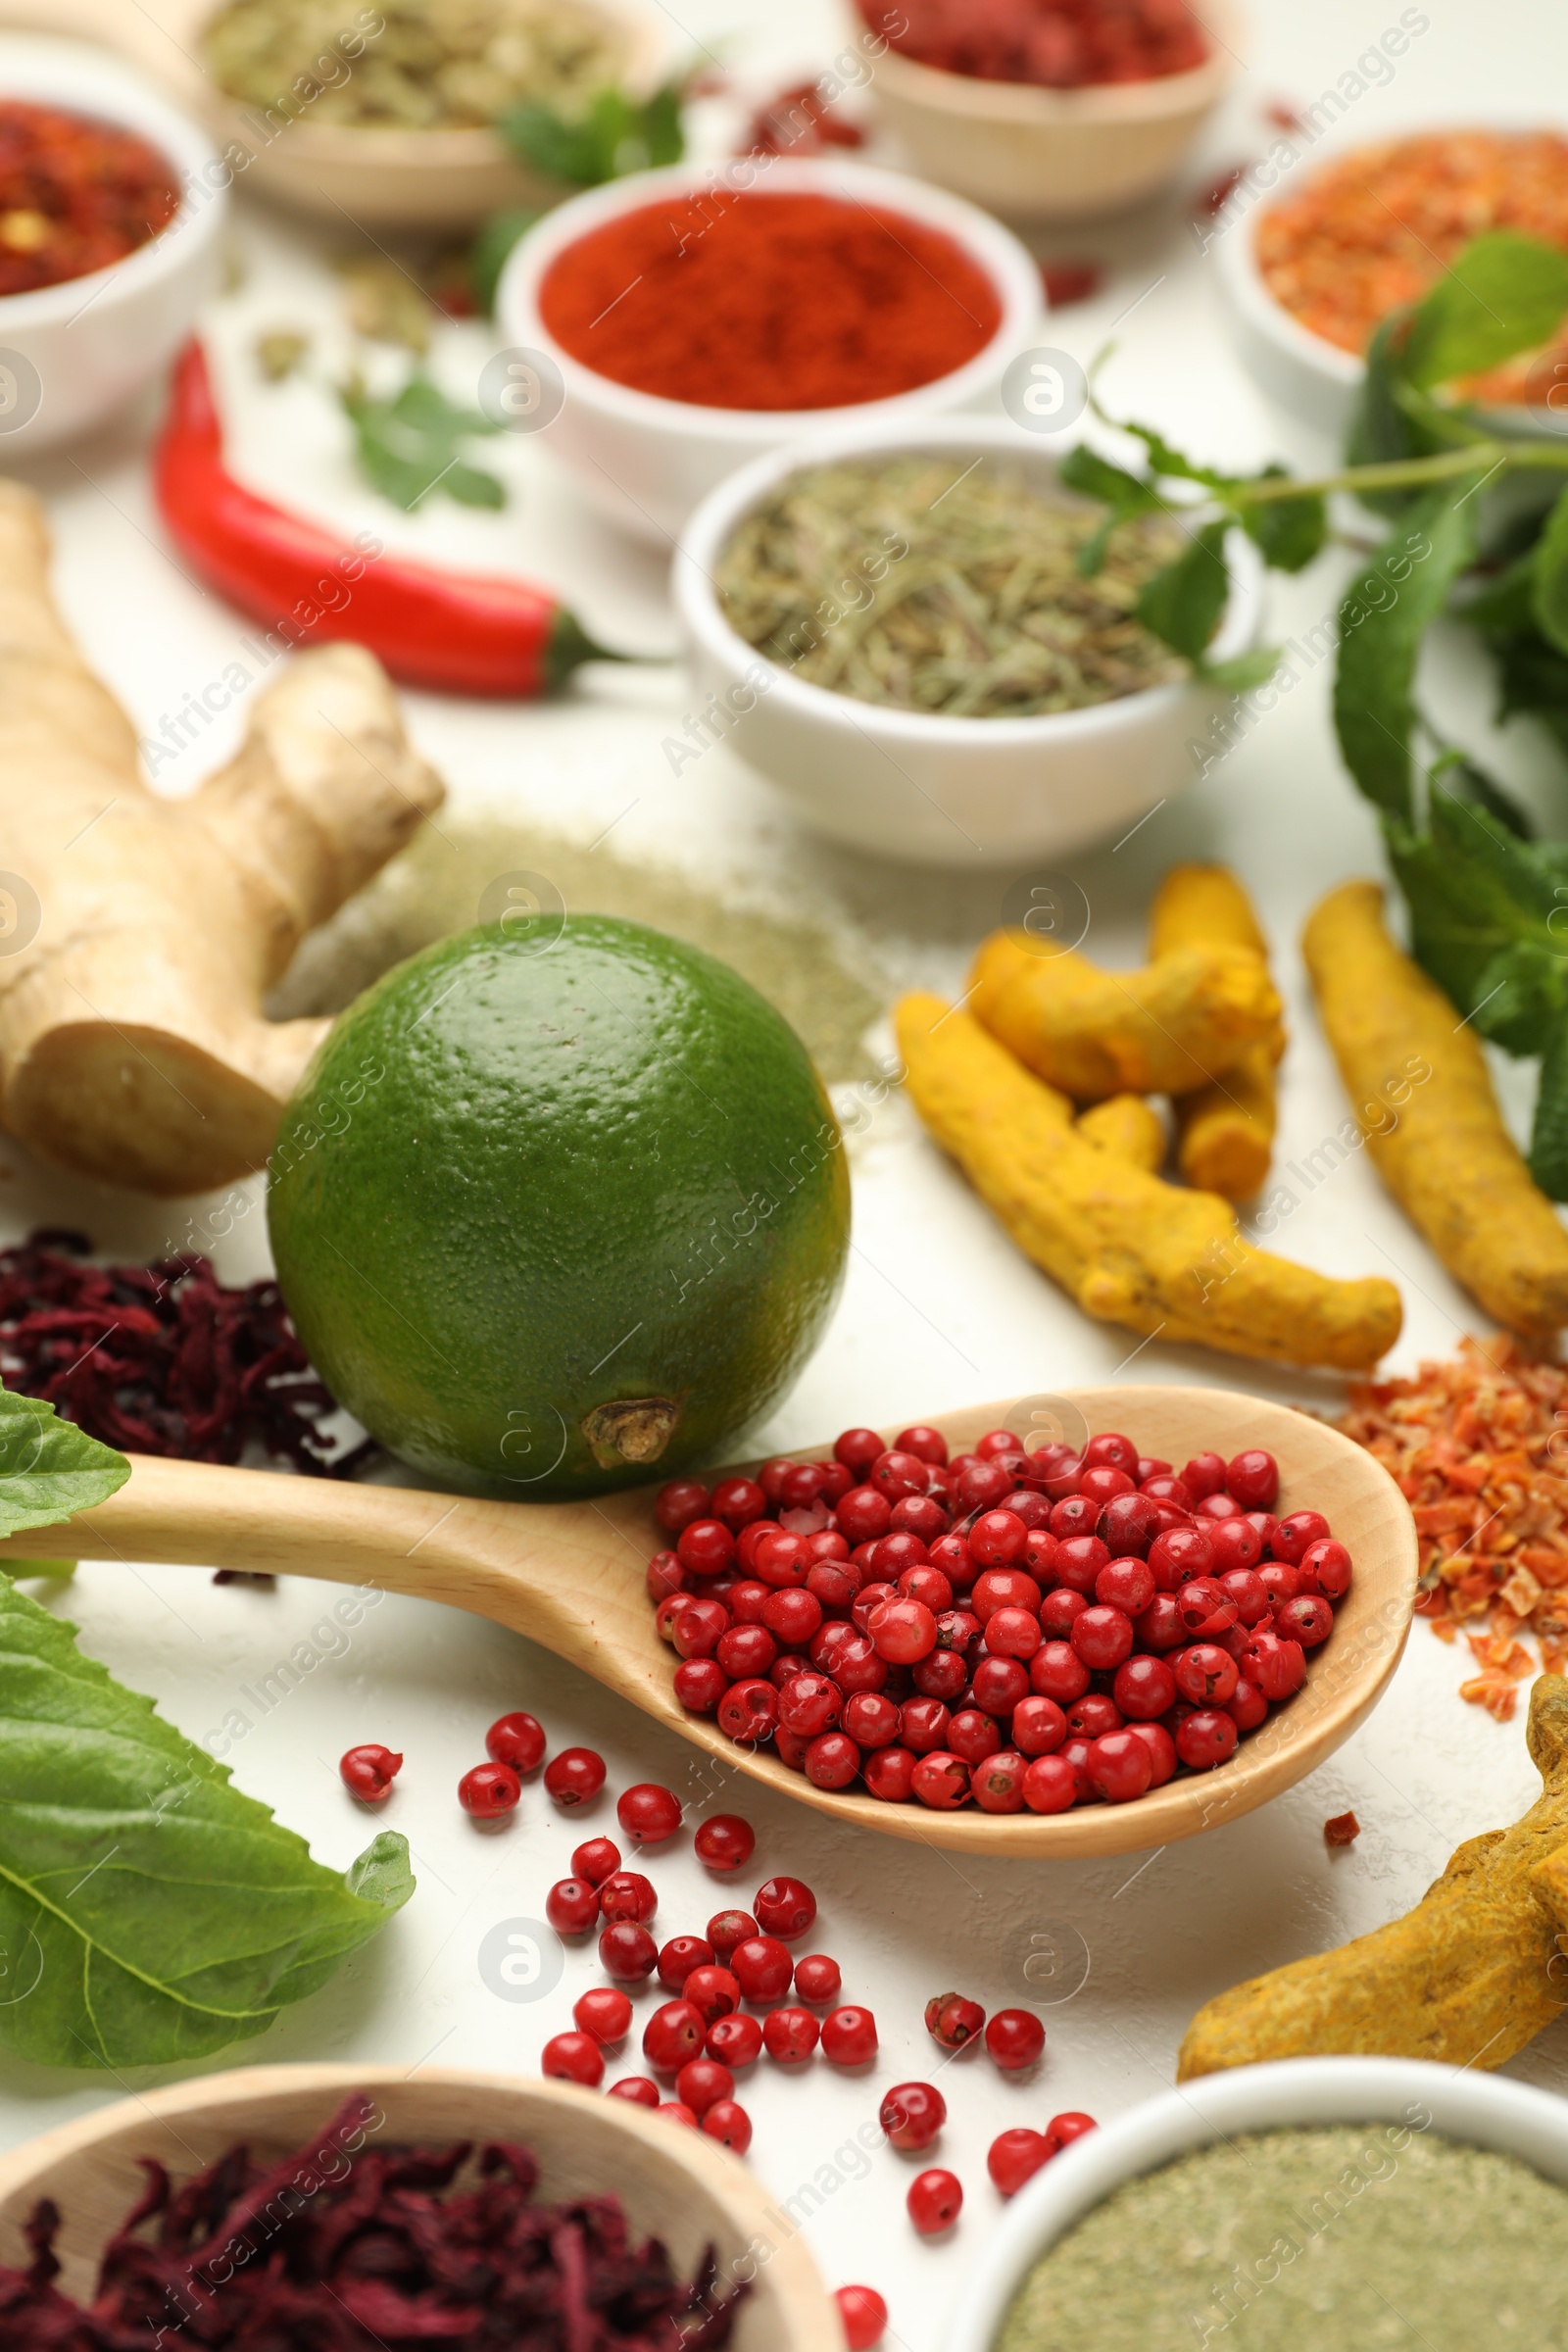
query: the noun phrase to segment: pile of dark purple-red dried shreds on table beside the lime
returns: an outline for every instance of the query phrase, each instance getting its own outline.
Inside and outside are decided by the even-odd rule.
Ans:
[[[339,1454],[336,1399],[317,1381],[275,1282],[223,1289],[209,1258],[94,1265],[82,1232],[0,1249],[0,1376],[61,1421],[132,1454],[233,1463],[247,1444],[317,1477],[348,1477],[376,1446]]]

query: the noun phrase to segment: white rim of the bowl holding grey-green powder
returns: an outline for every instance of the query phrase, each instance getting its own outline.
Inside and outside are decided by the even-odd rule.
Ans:
[[[1422,2112],[1429,2126],[1418,2122]],[[1521,2082],[1418,2058],[1286,2058],[1204,2074],[1086,2133],[1034,2173],[980,2256],[947,2352],[994,2352],[1034,2263],[1126,2180],[1237,2131],[1291,2124],[1415,2124],[1521,2157],[1568,2185],[1568,2100]]]

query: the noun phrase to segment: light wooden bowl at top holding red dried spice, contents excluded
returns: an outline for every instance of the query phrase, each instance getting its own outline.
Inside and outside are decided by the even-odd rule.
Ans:
[[[1211,47],[1192,73],[1039,89],[945,73],[889,49],[877,59],[872,99],[926,179],[1006,219],[1124,212],[1175,179],[1237,71],[1239,9],[1213,0],[1201,16]]]

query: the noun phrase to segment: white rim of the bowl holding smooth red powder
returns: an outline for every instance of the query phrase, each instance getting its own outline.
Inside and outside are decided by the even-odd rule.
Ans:
[[[538,313],[538,287],[550,263],[604,221],[614,221],[623,212],[644,212],[665,193],[696,195],[722,186],[724,174],[741,165],[752,165],[757,172],[752,188],[759,191],[842,195],[849,188],[851,198],[882,205],[886,212],[907,212],[926,228],[943,230],[992,280],[1001,303],[997,332],[950,374],[933,376],[905,393],[891,393],[886,400],[860,400],[842,409],[710,409],[696,400],[665,400],[661,393],[639,393],[630,383],[616,383],[614,376],[602,376],[564,350]],[[738,193],[750,193],[750,188]],[[545,350],[559,367],[567,390],[585,405],[623,423],[703,440],[733,440],[745,447],[755,447],[762,433],[795,437],[816,426],[830,428],[853,419],[872,423],[905,416],[910,407],[961,402],[994,381],[997,355],[1020,348],[1025,329],[1039,325],[1044,308],[1039,263],[990,212],[905,172],[886,172],[865,162],[830,162],[813,155],[736,155],[719,165],[677,162],[658,172],[628,172],[625,179],[611,179],[602,188],[585,188],[581,195],[569,195],[564,205],[557,205],[520,238],[496,287],[501,329],[508,336],[517,329],[517,336]]]

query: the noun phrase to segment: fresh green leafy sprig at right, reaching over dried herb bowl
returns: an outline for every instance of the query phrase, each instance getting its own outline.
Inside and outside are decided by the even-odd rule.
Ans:
[[[1568,757],[1568,435],[1502,433],[1441,397],[1552,343],[1566,315],[1568,254],[1514,233],[1476,238],[1373,339],[1338,473],[1222,475],[1138,423],[1121,430],[1143,442],[1143,473],[1084,449],[1063,463],[1063,480],[1117,517],[1166,503],[1161,485],[1208,492],[1138,616],[1232,691],[1272,675],[1276,656],[1204,661],[1225,609],[1227,534],[1244,529],[1267,564],[1300,572],[1326,541],[1335,492],[1389,520],[1340,602],[1340,755],[1378,809],[1415,957],[1479,1035],[1540,1058],[1530,1174],[1552,1200],[1568,1200],[1568,842],[1533,840],[1512,793],[1441,739],[1420,710],[1418,668],[1434,621],[1467,623],[1495,666],[1497,717],[1537,720]]]

